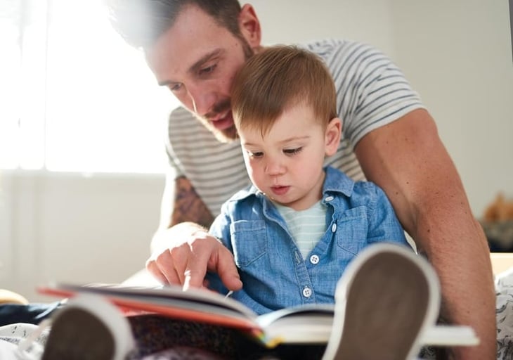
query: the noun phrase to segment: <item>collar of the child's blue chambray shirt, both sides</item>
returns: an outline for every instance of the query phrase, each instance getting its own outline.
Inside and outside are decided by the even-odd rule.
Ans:
[[[335,195],[335,193],[342,193],[347,197],[351,196],[353,193],[354,181],[351,180],[349,176],[329,166],[325,167],[325,172],[326,177],[323,185],[323,198],[326,198],[329,195]],[[252,195],[260,197],[264,194],[252,185],[243,191],[239,191],[230,200],[238,201],[249,198],[249,196]]]

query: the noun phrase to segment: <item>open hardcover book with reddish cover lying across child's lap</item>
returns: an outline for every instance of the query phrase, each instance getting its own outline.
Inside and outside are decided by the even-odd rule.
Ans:
[[[175,319],[238,328],[266,347],[281,343],[327,343],[334,314],[334,305],[317,304],[280,309],[259,316],[230,297],[201,289],[183,291],[181,287],[173,285],[144,288],[56,283],[38,290],[58,297],[72,297],[79,293],[102,295],[128,315],[150,312]],[[469,346],[478,343],[474,330],[468,326],[434,326],[422,338],[423,345]]]

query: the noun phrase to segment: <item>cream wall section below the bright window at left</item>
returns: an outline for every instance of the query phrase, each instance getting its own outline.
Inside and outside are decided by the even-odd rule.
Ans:
[[[2,172],[0,288],[121,282],[144,266],[164,176]]]

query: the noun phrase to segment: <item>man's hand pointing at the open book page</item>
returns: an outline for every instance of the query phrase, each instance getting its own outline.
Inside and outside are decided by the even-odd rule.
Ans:
[[[240,290],[242,282],[233,255],[222,243],[196,224],[181,223],[160,231],[146,269],[162,283],[204,286],[207,271],[216,272],[228,290]]]

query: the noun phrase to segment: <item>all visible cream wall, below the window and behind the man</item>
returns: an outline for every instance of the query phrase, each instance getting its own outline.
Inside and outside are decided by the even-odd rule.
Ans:
[[[507,1],[252,1],[264,44],[324,37],[374,44],[434,115],[474,213],[513,196],[513,62]],[[481,125],[481,126],[480,126]],[[483,128],[482,125],[484,125]],[[0,288],[48,300],[51,280],[122,281],[143,267],[160,175],[4,172]]]

